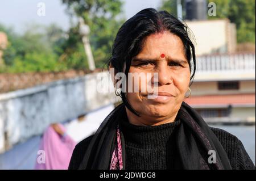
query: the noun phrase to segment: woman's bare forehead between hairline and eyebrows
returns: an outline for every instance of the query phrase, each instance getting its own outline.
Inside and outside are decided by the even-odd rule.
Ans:
[[[142,50],[136,57],[156,58],[162,53],[170,58],[185,58],[180,37],[167,31],[151,34],[144,39]]]

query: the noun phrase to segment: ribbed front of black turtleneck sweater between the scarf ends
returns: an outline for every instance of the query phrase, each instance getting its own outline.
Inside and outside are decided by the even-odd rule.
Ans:
[[[180,125],[180,120],[157,126],[138,126],[128,121],[121,122],[125,137],[126,169],[167,169],[170,161],[168,145],[174,129]],[[171,158],[170,158],[171,157]]]

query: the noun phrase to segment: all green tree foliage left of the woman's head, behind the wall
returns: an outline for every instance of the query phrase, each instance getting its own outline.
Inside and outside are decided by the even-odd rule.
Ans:
[[[71,19],[82,17],[90,27],[89,40],[96,68],[102,68],[108,60],[112,44],[123,23],[121,0],[62,0],[67,5]],[[55,24],[47,27],[31,24],[19,35],[0,24],[9,44],[3,50],[4,64],[1,72],[62,71],[88,68],[87,57],[79,33],[79,24],[73,23],[64,32]]]

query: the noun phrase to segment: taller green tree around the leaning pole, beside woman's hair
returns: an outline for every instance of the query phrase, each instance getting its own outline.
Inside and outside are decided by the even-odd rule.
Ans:
[[[63,0],[68,6],[69,13],[84,19],[90,27],[90,44],[97,68],[102,68],[112,50],[112,44],[118,28],[123,19],[118,17],[122,12],[120,0]],[[119,19],[118,19],[119,18]],[[79,26],[72,27],[69,31],[69,39],[63,45],[65,60],[77,54],[82,57],[82,39],[79,35]],[[75,56],[76,58],[76,56]],[[71,58],[72,60],[72,58]],[[86,58],[84,58],[84,61]],[[74,60],[75,61],[75,60]],[[85,64],[83,64],[85,65]],[[77,65],[77,67],[80,67]]]

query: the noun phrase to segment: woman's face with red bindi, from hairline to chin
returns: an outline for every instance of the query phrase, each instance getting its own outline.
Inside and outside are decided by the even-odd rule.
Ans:
[[[178,36],[165,31],[146,37],[141,52],[131,61],[129,72],[151,73],[152,76],[158,73],[158,81],[155,82],[158,96],[155,99],[148,98],[148,94],[152,94],[149,89],[141,91],[142,87],[146,87],[145,83],[133,82],[139,91],[127,92],[127,100],[135,111],[155,123],[176,117],[190,78],[184,45]],[[152,78],[150,84],[153,86],[153,83]]]

